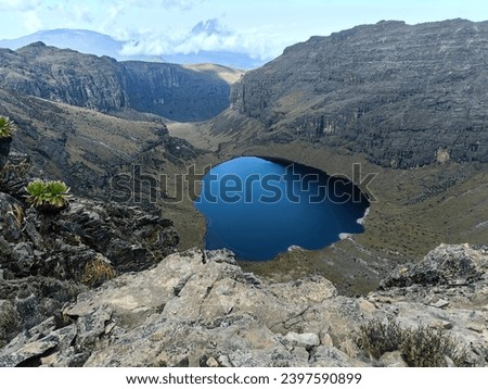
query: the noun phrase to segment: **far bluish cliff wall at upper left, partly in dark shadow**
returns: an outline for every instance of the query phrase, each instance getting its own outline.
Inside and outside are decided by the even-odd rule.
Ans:
[[[218,72],[108,57],[31,43],[0,49],[0,88],[101,112],[127,109],[170,120],[204,121],[229,105]]]

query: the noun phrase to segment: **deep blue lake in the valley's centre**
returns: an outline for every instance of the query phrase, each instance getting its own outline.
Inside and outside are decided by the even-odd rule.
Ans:
[[[292,246],[321,249],[360,234],[369,206],[350,181],[284,161],[242,156],[210,170],[195,208],[207,219],[206,249],[272,260]]]

